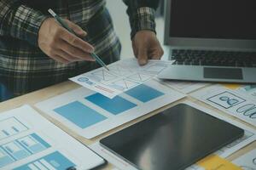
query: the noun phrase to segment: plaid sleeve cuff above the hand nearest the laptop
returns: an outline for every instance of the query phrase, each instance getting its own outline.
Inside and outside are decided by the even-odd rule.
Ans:
[[[128,6],[131,25],[131,38],[137,31],[150,30],[155,32],[154,14],[159,0],[123,0]],[[155,32],[156,33],[156,32]]]

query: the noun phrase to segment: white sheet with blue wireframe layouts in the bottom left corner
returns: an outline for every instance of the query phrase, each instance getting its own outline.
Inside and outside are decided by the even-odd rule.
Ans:
[[[102,157],[28,105],[0,114],[0,169],[90,169],[102,163]]]

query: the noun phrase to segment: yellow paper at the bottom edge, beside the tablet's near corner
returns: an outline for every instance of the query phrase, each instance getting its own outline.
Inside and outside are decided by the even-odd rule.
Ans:
[[[211,155],[197,162],[197,165],[204,167],[206,170],[241,170],[230,161],[227,161],[219,156]]]

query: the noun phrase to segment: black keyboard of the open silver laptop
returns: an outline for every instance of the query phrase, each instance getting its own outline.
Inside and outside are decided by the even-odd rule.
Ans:
[[[256,67],[256,52],[173,49],[173,65]]]

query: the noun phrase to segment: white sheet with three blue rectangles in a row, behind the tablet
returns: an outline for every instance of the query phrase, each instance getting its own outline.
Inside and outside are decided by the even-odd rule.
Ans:
[[[183,97],[184,94],[151,80],[113,99],[88,88],[77,88],[36,107],[80,136],[91,139]]]

